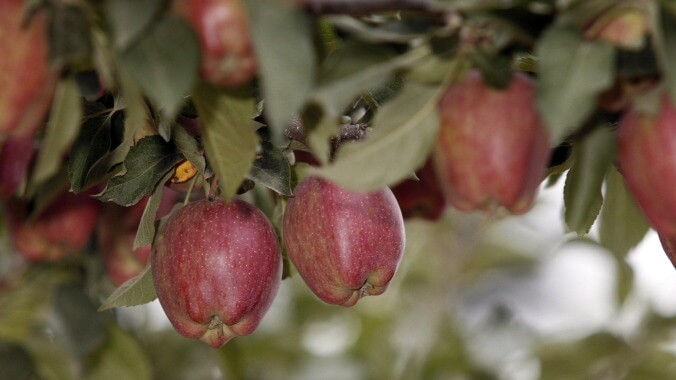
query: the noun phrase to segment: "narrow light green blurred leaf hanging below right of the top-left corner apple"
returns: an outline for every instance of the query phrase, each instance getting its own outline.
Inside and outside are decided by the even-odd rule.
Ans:
[[[42,149],[33,168],[32,187],[59,171],[65,152],[77,137],[82,112],[80,91],[75,80],[68,78],[61,81],[54,95]]]

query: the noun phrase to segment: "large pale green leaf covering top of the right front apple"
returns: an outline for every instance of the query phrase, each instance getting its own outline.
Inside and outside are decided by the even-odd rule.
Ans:
[[[378,110],[366,140],[343,145],[336,161],[318,174],[361,191],[406,178],[423,165],[436,141],[439,95],[437,87],[406,83],[397,97]]]

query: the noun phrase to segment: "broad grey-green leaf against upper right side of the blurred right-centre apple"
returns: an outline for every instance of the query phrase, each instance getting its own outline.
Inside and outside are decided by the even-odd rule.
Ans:
[[[549,28],[536,46],[540,113],[552,140],[575,131],[596,107],[596,97],[610,87],[615,50],[602,41],[585,41],[573,29]]]

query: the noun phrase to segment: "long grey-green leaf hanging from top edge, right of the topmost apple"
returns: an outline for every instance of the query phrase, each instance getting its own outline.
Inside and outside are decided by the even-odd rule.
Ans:
[[[308,16],[278,0],[246,1],[261,74],[265,115],[281,136],[314,85],[315,52]]]

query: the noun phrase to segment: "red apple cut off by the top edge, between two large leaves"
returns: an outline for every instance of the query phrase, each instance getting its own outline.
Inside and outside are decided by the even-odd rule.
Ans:
[[[176,9],[199,36],[206,81],[235,87],[256,75],[249,24],[240,0],[178,0]]]

